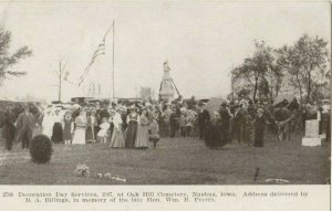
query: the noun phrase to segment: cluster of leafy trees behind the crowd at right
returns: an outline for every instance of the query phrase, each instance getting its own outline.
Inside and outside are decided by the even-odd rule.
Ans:
[[[230,96],[273,102],[282,89],[299,96],[301,103],[330,98],[328,42],[302,35],[293,45],[274,49],[255,41],[255,52],[231,70]]]

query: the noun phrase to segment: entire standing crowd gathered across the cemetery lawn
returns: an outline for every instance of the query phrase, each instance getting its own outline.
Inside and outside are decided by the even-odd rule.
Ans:
[[[282,102],[282,108],[298,110],[299,104]],[[156,148],[160,137],[198,136],[214,149],[231,143],[262,147],[266,127],[278,123],[272,109],[278,106],[251,99],[224,102],[215,110],[206,103],[111,103],[96,102],[70,107],[55,105],[46,108],[25,106],[19,115],[7,106],[2,137],[6,148],[21,143],[29,148],[32,137],[44,134],[54,144],[85,145],[101,143],[112,148]],[[281,109],[282,110],[282,109]],[[282,120],[282,119],[281,119]],[[284,119],[283,119],[284,120]]]

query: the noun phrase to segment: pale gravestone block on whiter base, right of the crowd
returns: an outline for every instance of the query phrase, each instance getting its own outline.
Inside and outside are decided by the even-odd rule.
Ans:
[[[303,146],[321,146],[322,140],[319,135],[319,120],[305,120],[305,136],[302,138]]]

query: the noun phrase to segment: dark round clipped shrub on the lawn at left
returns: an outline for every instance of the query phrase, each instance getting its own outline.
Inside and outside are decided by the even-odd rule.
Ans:
[[[30,156],[32,161],[45,163],[50,161],[53,154],[52,143],[45,135],[35,136],[30,145]]]

